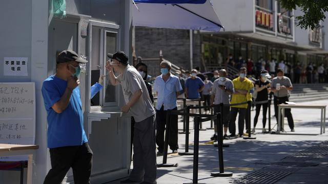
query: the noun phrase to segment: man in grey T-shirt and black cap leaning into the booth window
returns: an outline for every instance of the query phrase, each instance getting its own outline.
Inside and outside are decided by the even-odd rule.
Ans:
[[[122,112],[131,113],[135,119],[133,137],[133,170],[129,179],[121,183],[156,183],[155,109],[150,100],[144,79],[128,64],[128,56],[117,51],[108,54],[111,58],[106,68],[112,85],[122,85],[126,105]],[[113,73],[119,73],[115,77]]]

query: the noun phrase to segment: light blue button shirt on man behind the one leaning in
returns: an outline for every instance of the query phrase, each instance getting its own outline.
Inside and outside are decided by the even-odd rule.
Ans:
[[[157,91],[156,109],[170,110],[178,106],[176,102],[176,92],[182,90],[178,77],[170,74],[169,79],[165,82],[163,76],[157,76],[154,82],[154,90]]]

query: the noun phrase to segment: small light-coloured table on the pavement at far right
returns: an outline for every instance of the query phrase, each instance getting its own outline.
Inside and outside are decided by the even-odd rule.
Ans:
[[[320,120],[320,134],[325,133],[326,127],[326,106],[325,105],[290,105],[290,104],[279,104],[278,105],[278,133],[280,133],[280,127],[284,125],[285,108],[305,108],[305,109],[321,109],[321,120]],[[281,118],[283,117],[283,118]]]

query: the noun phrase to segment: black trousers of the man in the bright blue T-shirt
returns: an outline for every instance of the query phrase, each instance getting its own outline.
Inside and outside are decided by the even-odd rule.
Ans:
[[[73,170],[74,183],[89,184],[92,154],[88,143],[50,148],[51,169],[44,184],[60,184],[70,168]]]

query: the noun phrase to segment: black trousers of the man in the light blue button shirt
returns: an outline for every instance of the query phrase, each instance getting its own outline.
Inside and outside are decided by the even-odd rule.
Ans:
[[[177,107],[171,109],[177,110]],[[166,115],[168,111],[163,110],[163,106],[160,110],[156,110],[156,144],[158,146],[158,151],[162,152],[164,150],[164,132],[166,126]],[[177,150],[178,145],[178,116],[170,116],[170,134],[169,134],[169,146],[171,150]]]

